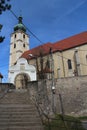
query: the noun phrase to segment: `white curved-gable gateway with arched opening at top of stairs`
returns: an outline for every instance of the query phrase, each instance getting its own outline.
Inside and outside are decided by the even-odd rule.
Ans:
[[[16,89],[25,89],[28,81],[36,80],[36,68],[28,64],[25,58],[18,59],[17,63],[9,69],[9,83]]]

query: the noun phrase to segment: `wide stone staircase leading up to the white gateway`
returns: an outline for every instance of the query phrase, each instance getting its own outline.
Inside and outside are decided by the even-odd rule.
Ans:
[[[43,130],[26,90],[9,91],[0,99],[0,130]]]

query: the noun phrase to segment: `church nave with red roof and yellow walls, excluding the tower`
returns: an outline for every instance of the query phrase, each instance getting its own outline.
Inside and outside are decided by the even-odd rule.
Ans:
[[[50,52],[51,50],[51,52]],[[29,59],[29,54],[36,56]],[[66,78],[87,75],[87,31],[54,43],[46,43],[22,54],[29,64],[38,63],[37,74],[44,78]],[[38,75],[37,75],[38,76]]]

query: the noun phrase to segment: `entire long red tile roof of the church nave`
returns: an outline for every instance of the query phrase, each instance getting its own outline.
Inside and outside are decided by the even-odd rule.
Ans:
[[[29,54],[32,54],[33,56],[40,56],[40,53],[42,53],[42,55],[47,55],[50,52],[50,48],[52,48],[53,52],[56,52],[56,51],[64,51],[84,44],[87,44],[87,31],[71,36],[64,40],[57,41],[55,43],[49,42],[40,45],[38,47],[35,47],[31,50],[24,52],[21,57],[31,59],[31,56],[29,56]]]

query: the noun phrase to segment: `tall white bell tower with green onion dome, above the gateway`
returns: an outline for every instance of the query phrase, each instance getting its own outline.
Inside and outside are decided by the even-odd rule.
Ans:
[[[22,17],[19,17],[18,24],[14,27],[14,32],[11,34],[9,68],[27,50],[29,50],[29,36],[26,34],[26,27],[22,23]]]

